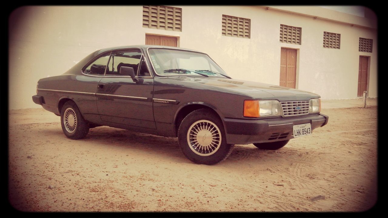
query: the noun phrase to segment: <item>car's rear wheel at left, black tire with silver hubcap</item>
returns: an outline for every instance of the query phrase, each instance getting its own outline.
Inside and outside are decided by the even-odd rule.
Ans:
[[[64,120],[65,112],[68,115]],[[89,123],[83,116],[73,101],[67,101],[61,111],[61,126],[66,137],[71,139],[84,138],[89,132]]]

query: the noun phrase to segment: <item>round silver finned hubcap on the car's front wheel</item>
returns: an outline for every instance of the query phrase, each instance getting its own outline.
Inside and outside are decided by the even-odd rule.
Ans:
[[[220,148],[221,131],[211,121],[196,121],[187,131],[187,143],[190,149],[200,156],[212,155]]]

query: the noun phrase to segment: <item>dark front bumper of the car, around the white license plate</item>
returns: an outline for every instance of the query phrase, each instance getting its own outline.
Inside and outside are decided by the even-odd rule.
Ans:
[[[312,130],[327,124],[325,114],[308,114],[290,118],[231,119],[224,118],[228,144],[276,142],[294,138],[293,126],[310,123]]]

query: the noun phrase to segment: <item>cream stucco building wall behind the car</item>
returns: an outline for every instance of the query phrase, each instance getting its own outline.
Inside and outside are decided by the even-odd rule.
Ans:
[[[233,78],[275,85],[281,47],[297,48],[297,88],[322,99],[357,97],[359,55],[370,56],[369,97],[377,97],[376,29],[257,6],[178,7],[182,32],[143,28],[142,6],[15,10],[10,16],[9,108],[40,107],[31,99],[40,78],[62,74],[101,48],[143,45],[146,33],[178,36],[179,47],[208,53]],[[222,36],[222,14],[251,19],[251,38]],[[301,45],[280,43],[280,24],[301,27]],[[340,33],[341,49],[322,48],[323,31]],[[359,37],[373,39],[372,53],[358,51]]]

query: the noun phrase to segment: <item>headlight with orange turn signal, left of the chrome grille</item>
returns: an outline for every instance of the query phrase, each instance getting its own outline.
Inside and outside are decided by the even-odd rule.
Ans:
[[[281,109],[277,100],[244,100],[244,117],[281,116]]]

